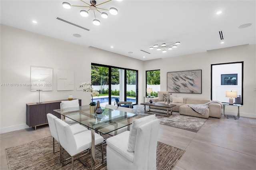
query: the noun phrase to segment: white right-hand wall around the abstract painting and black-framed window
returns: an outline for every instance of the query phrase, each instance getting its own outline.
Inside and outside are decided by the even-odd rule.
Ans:
[[[203,53],[155,59],[144,62],[144,70],[160,69],[161,90],[166,91],[166,73],[202,69],[202,94],[176,93],[179,97],[210,99],[211,97],[211,64],[244,61],[244,105],[240,115],[256,118],[256,45],[240,45],[236,47],[210,50]],[[182,49],[177,49],[182,50]],[[162,55],[159,54],[159,55]],[[168,54],[167,54],[168,55]],[[171,55],[171,52],[170,52]],[[145,74],[143,79],[145,79]],[[145,88],[145,82],[144,88]],[[145,89],[144,89],[145,91]],[[225,113],[237,113],[236,107],[226,107]]]

